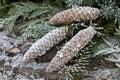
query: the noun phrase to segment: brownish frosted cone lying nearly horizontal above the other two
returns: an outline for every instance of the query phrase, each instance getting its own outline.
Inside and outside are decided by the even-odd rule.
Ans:
[[[69,24],[74,21],[88,21],[96,19],[100,10],[92,7],[78,7],[64,10],[49,20],[50,25]]]

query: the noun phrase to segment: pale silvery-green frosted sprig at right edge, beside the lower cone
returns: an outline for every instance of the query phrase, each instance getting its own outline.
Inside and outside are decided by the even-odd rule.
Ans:
[[[120,47],[119,47],[119,38],[116,36],[108,37],[108,41],[111,43],[111,47],[108,47],[104,44],[98,45],[96,52],[94,53],[94,57],[96,56],[105,56],[105,60],[114,62],[116,66],[120,67]]]

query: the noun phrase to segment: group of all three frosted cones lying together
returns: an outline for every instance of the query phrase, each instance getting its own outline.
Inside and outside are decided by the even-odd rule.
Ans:
[[[94,20],[100,15],[100,10],[93,7],[71,8],[57,13],[49,20],[50,25],[60,26],[70,24],[74,21]],[[25,53],[23,62],[28,62],[37,56],[44,55],[51,47],[55,46],[66,38],[68,27],[56,28],[41,39],[37,40]],[[92,37],[96,34],[93,27],[88,27],[79,31],[70,41],[68,41],[60,51],[56,53],[54,58],[46,68],[46,72],[50,73],[61,69],[68,61],[70,61],[82,48],[84,48]]]

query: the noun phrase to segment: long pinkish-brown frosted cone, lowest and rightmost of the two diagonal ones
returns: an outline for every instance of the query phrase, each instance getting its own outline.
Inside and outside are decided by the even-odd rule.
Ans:
[[[79,31],[69,42],[57,52],[52,59],[46,72],[52,72],[60,69],[64,64],[70,61],[82,48],[84,48],[96,33],[93,27]]]

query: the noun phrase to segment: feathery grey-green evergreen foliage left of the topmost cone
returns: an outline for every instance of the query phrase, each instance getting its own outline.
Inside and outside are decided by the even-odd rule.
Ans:
[[[12,3],[8,11],[8,17],[1,19],[1,24],[4,25],[4,33],[8,35],[14,28],[18,28],[21,36],[16,43],[22,43],[30,37],[34,40],[39,39],[53,29],[53,27],[47,25],[47,19],[50,17],[48,13],[51,8],[32,2]]]

